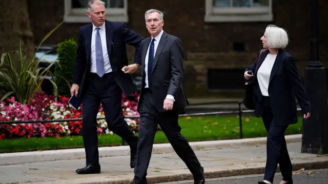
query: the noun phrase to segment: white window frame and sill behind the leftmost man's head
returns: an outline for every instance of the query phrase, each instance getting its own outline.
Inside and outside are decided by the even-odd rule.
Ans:
[[[64,0],[65,13],[63,16],[65,23],[90,23],[87,16],[88,8],[72,8],[71,0]],[[128,0],[124,0],[124,8],[106,8],[106,19],[115,22],[129,22]]]

